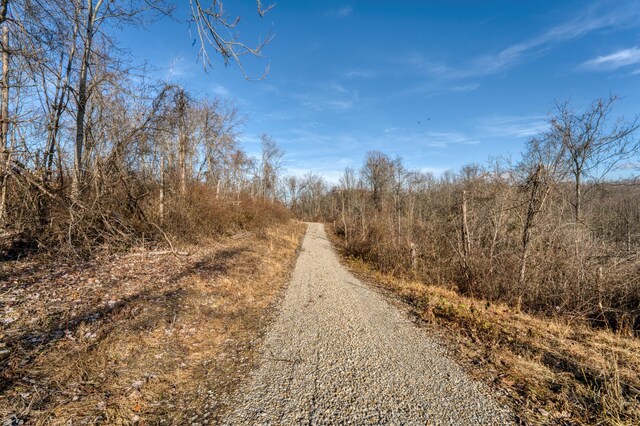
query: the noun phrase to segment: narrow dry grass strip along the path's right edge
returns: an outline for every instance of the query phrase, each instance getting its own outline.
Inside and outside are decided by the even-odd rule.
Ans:
[[[443,341],[474,376],[501,390],[522,423],[640,424],[639,339],[395,278],[353,258],[345,262],[420,322],[447,331]]]

